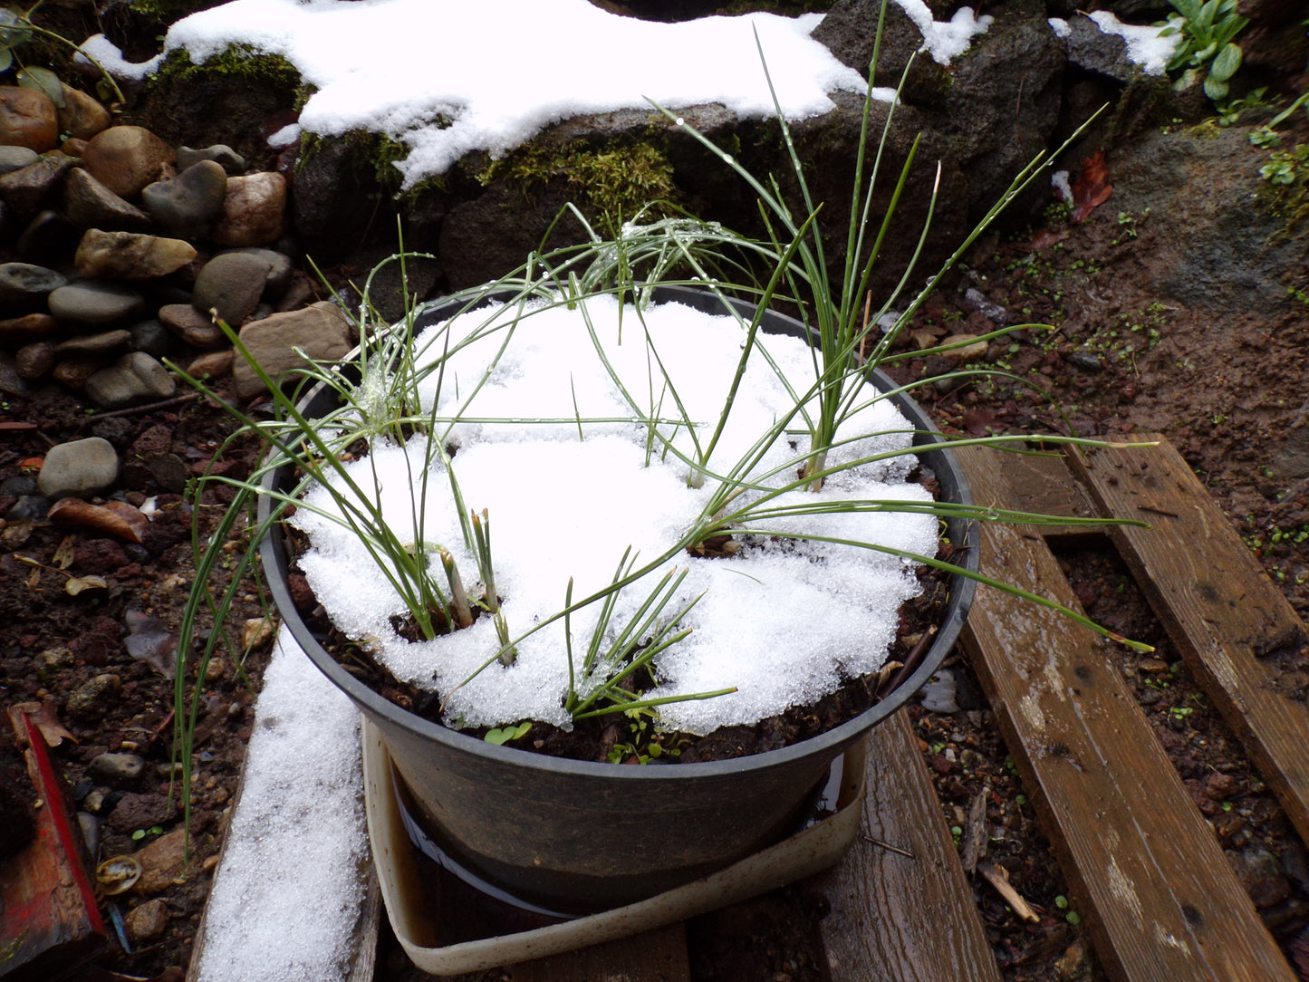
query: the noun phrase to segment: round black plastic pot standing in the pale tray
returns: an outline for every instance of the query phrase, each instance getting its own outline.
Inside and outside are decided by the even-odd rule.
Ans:
[[[712,295],[687,288],[661,288],[656,300],[707,313],[723,310]],[[749,304],[738,306],[747,316],[753,310]],[[454,304],[431,308],[420,323],[445,319],[457,309]],[[805,336],[798,321],[775,312],[766,314],[764,330]],[[880,373],[874,381],[894,388]],[[935,443],[936,427],[918,403],[905,395],[893,398],[920,431],[915,443]],[[310,393],[308,415],[326,412],[331,399],[327,390]],[[935,473],[942,499],[971,501],[949,453],[928,450],[920,460]],[[291,482],[289,473],[275,473],[266,486],[288,488]],[[266,498],[260,517],[268,508]],[[948,534],[958,547],[957,562],[975,571],[975,525],[956,520]],[[925,657],[880,703],[848,723],[753,757],[636,767],[495,746],[401,710],[338,665],[296,613],[280,530],[263,542],[260,554],[274,601],[292,635],[382,731],[428,834],[475,875],[525,901],[568,913],[652,897],[793,831],[831,761],[903,706],[937,670],[963,626],[975,585],[962,576],[953,579],[944,622]]]

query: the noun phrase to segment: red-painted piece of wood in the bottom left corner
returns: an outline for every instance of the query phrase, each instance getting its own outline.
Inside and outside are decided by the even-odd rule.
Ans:
[[[24,757],[41,807],[35,838],[0,862],[0,975],[45,982],[93,956],[105,940],[105,924],[64,782],[27,714],[10,708],[9,720],[27,748]]]

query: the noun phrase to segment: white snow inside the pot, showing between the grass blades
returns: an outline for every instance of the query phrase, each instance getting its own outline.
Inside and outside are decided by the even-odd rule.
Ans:
[[[679,304],[649,308],[637,317],[631,306],[620,312],[611,297],[588,300],[586,310],[632,398],[643,410],[654,407],[656,415],[673,416],[670,393],[675,390],[703,444],[717,423],[740,357],[742,334],[737,321]],[[648,460],[647,429],[632,422],[634,412],[603,369],[579,310],[558,306],[520,318],[505,355],[470,401],[475,380],[486,374],[509,327],[509,317],[501,314],[507,309],[493,316],[476,312],[450,322],[452,351],[470,329],[490,323],[495,330],[452,355],[444,390],[437,394],[429,389],[424,398],[436,398],[442,415],[462,410],[482,420],[503,420],[459,423],[446,444],[458,448],[453,466],[466,507],[490,512],[496,592],[511,634],[517,636],[545,625],[562,610],[569,579],[575,602],[607,587],[624,550],[631,547],[634,555],[639,554],[637,567],[665,558],[652,573],[622,591],[614,625],[635,617],[658,579],[672,570],[686,570],[687,576],[668,614],[700,597],[681,622],[692,634],[660,656],[658,686],[649,695],[732,686],[738,690],[661,707],[664,719],[674,727],[708,732],[751,723],[812,702],[846,678],[882,664],[898,608],[918,592],[918,581],[903,560],[853,546],[810,538],[775,541],[767,536],[746,539],[729,559],[703,559],[675,549],[704,508],[713,478],[704,482],[704,488],[689,487],[687,465],[674,453],[661,454],[661,441],[654,443]],[[622,344],[617,343],[619,330]],[[647,333],[672,380],[668,391],[657,369],[652,372]],[[813,378],[808,346],[779,335],[767,335],[761,343],[792,389],[805,391]],[[419,344],[440,351],[440,329],[429,329]],[[730,467],[744,457],[791,405],[785,386],[767,363],[751,359],[709,470]],[[584,420],[583,439],[577,435],[577,415]],[[560,422],[528,426],[518,422],[524,418]],[[798,418],[795,424],[800,426]],[[903,450],[911,443],[908,429],[890,402],[877,401],[838,432],[838,441],[860,439],[834,446],[829,466]],[[677,452],[694,453],[689,427],[666,423],[660,432]],[[805,446],[789,443],[783,437],[766,449],[751,470],[755,481],[778,487],[793,479],[795,458]],[[829,478],[817,495],[788,492],[776,504],[852,498],[922,503],[929,500],[927,492],[903,481],[914,464],[911,454],[903,454],[890,462],[860,465]],[[410,441],[404,448],[376,448],[351,465],[351,475],[377,496],[402,542],[418,538],[416,513],[425,504],[423,541],[450,550],[474,594],[476,560],[463,545],[440,462],[432,466],[425,503],[415,500],[410,474],[421,473],[424,466],[418,441]],[[770,475],[771,470],[778,473]],[[759,494],[747,492],[741,501]],[[399,638],[390,623],[403,611],[397,592],[385,577],[369,571],[357,539],[314,513],[314,507],[336,513],[326,492],[318,488],[306,501],[310,507],[297,511],[295,521],[309,533],[314,549],[301,558],[301,570],[336,625],[353,636],[376,639],[378,657],[397,677],[450,693],[495,655],[500,646],[488,617],[432,642]],[[932,516],[891,512],[823,520],[783,517],[758,522],[763,525],[800,537],[825,534],[916,554],[936,551],[937,522]],[[598,608],[593,602],[572,615],[577,659],[590,642]],[[456,689],[446,706],[448,719],[465,725],[499,725],[531,718],[567,725],[562,708],[568,685],[563,621],[522,639],[517,652],[511,668],[493,664]]]

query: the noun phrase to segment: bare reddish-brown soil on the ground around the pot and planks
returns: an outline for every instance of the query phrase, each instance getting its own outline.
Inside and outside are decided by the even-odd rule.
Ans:
[[[1204,175],[1219,194],[1223,166],[1215,162]],[[922,336],[928,343],[950,333],[982,333],[996,309],[1005,310],[1012,322],[1054,322],[1059,326],[1054,334],[995,342],[984,355],[1033,385],[971,382],[952,391],[927,388],[914,394],[942,428],[956,433],[1059,429],[1063,422],[1047,393],[1066,407],[1081,435],[1121,436],[1134,428],[1165,432],[1305,615],[1309,465],[1301,466],[1300,458],[1309,452],[1301,415],[1309,304],[1292,297],[1255,314],[1241,313],[1236,304],[1161,300],[1158,284],[1170,280],[1177,263],[1175,253],[1164,246],[1178,237],[1185,241],[1185,221],[1172,216],[1165,227],[1139,215],[1123,220],[1110,198],[1084,223],[1054,217],[1017,237],[991,240],[971,257],[973,280],[929,304],[915,329],[927,333]],[[1157,223],[1157,232],[1152,223]],[[995,306],[967,300],[962,292],[967,285]],[[915,343],[906,335],[906,344]],[[922,359],[908,363],[903,373],[908,380],[937,368]],[[0,427],[5,436],[0,481],[22,478],[33,466],[29,461],[42,457],[54,443],[98,435],[131,461],[119,486],[123,495],[135,503],[157,496],[160,511],[139,546],[41,518],[10,517],[0,529],[0,622],[8,626],[0,643],[4,698],[9,703],[54,704],[76,741],[65,740],[55,752],[72,795],[105,822],[101,855],[134,852],[182,827],[168,796],[171,681],[161,669],[171,659],[168,639],[177,630],[192,584],[191,516],[179,495],[161,486],[158,474],[166,469],[158,461],[170,458],[168,466],[175,470],[175,458],[195,473],[212,460],[226,424],[215,409],[194,399],[94,414],[75,395],[51,390],[33,401],[10,398],[0,407]],[[237,446],[217,464],[240,473],[257,453],[254,446]],[[5,488],[3,512],[9,511],[22,484],[7,483]],[[221,504],[207,503],[202,526],[213,521]],[[46,568],[20,563],[18,555]],[[69,555],[71,563],[58,571],[62,558]],[[1148,660],[1123,653],[1124,674],[1274,934],[1288,952],[1309,944],[1309,858],[1240,741],[1179,666],[1117,559],[1096,549],[1062,558],[1096,619],[1158,646]],[[68,575],[102,576],[109,585],[71,596],[65,592]],[[237,625],[263,614],[253,585],[246,597]],[[196,736],[192,865],[183,881],[156,894],[169,914],[165,932],[141,941],[132,955],[111,944],[98,960],[106,970],[153,977],[187,964],[221,846],[224,809],[237,791],[266,659],[266,644],[243,664],[225,656],[206,680]],[[988,885],[974,882],[1004,974],[1011,979],[1102,978],[1085,928],[1069,923],[1076,918],[1058,903],[1068,886],[1012,773],[994,715],[962,656],[954,656],[950,668],[957,676],[959,710],[914,710],[923,752],[937,775],[942,813],[950,825],[962,826],[959,816],[967,814],[983,787],[990,788],[988,821],[1005,829],[1004,839],[991,843],[991,856],[1009,871],[1014,888],[1043,911],[1041,923],[1024,923]],[[1309,665],[1300,663],[1289,670],[1309,672]],[[141,755],[145,771],[117,787],[93,779],[90,762],[110,752]],[[99,788],[109,788],[109,793]],[[122,903],[124,911],[147,900],[128,896],[132,900]],[[692,977],[703,982],[825,979],[816,941],[822,913],[798,885],[699,918],[687,935]],[[416,978],[385,939],[377,977]]]

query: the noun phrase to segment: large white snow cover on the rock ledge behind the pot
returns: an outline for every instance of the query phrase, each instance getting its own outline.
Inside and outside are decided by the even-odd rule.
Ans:
[[[942,64],[991,22],[970,8],[933,22],[923,0],[897,3]],[[186,48],[195,62],[229,45],[284,56],[315,89],[300,126],[404,143],[410,155],[397,166],[411,186],[470,151],[499,156],[562,119],[648,109],[651,100],[771,117],[761,48],[788,119],[826,113],[831,92],[863,92],[865,82],[809,37],[821,20],[754,13],[657,24],[589,0],[233,0],[174,24],[164,50]],[[85,47],[117,75],[143,77],[160,63],[128,64],[103,35]]]

